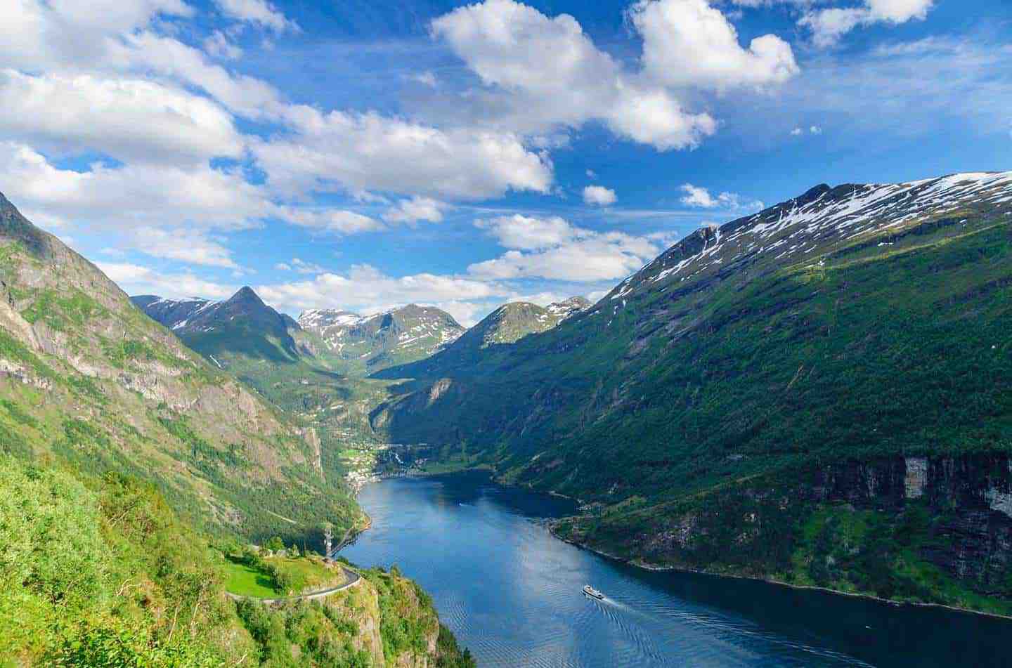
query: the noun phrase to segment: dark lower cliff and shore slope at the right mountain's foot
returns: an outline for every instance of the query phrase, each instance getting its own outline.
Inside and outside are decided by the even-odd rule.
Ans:
[[[657,506],[649,529],[624,537],[621,520],[602,519],[593,506],[559,528],[568,539],[653,566],[1005,612],[1012,610],[1003,602],[1012,597],[1010,501],[1008,453],[890,456],[810,467],[712,492],[701,503]],[[994,600],[982,603],[971,592]]]

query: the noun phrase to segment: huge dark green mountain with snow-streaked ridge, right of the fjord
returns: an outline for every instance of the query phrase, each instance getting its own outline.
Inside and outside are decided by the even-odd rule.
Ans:
[[[820,185],[372,424],[622,559],[1007,610],[1010,353],[1012,173]]]

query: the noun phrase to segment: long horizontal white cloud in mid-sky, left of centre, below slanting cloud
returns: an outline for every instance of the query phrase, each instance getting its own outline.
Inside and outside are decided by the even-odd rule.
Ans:
[[[321,113],[291,107],[293,133],[253,144],[277,191],[375,190],[484,198],[508,190],[546,192],[552,165],[520,138],[469,129],[438,130],[377,113]]]

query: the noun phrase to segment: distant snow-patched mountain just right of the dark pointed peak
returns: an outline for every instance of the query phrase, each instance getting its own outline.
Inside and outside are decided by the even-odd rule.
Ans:
[[[299,324],[361,372],[428,357],[465,331],[445,311],[414,304],[368,317],[346,311],[307,311],[299,317]]]

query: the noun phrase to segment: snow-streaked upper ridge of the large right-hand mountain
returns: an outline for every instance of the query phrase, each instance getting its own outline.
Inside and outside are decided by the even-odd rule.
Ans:
[[[723,226],[697,230],[619,283],[594,309],[615,314],[634,291],[678,289],[759,266],[823,262],[866,244],[890,246],[924,225],[1012,216],[1012,172],[953,174],[896,184],[818,185],[799,197]]]

